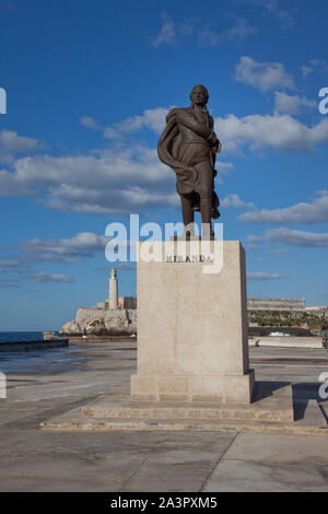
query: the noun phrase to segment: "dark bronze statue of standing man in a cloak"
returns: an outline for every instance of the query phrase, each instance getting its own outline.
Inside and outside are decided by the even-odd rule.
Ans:
[[[216,153],[221,143],[213,131],[213,118],[207,103],[204,85],[195,85],[189,107],[174,108],[166,117],[166,127],[159,141],[159,157],[177,177],[185,227],[194,223],[194,212],[201,212],[201,222],[211,229],[211,219],[220,217],[214,191]]]

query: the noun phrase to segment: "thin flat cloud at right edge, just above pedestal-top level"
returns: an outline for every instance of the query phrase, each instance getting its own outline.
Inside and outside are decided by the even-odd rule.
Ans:
[[[282,243],[301,247],[328,248],[328,233],[314,233],[295,231],[291,229],[272,229],[267,231],[266,237],[274,243]]]

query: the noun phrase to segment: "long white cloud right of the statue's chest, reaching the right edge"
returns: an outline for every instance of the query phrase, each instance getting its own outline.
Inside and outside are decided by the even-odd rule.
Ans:
[[[215,132],[223,152],[241,152],[243,145],[251,150],[273,149],[307,151],[328,142],[328,119],[307,127],[290,115],[249,115],[238,118],[230,114],[215,118]]]

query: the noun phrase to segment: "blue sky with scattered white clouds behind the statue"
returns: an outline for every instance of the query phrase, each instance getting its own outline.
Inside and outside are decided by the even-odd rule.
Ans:
[[[327,15],[324,0],[0,0],[0,330],[58,329],[107,297],[108,223],[180,220],[156,143],[196,83],[248,296],[327,305]],[[136,294],[131,267],[119,287]]]

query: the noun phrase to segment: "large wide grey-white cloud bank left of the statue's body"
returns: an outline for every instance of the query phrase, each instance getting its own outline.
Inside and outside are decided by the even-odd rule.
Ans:
[[[89,155],[36,155],[0,171],[0,196],[40,195],[46,207],[96,214],[176,207],[175,174],[142,147]]]

